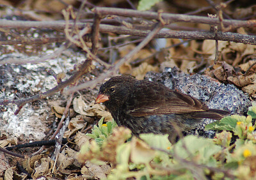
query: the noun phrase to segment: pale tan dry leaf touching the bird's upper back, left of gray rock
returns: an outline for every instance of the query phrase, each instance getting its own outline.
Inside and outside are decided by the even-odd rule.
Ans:
[[[131,75],[136,77],[136,79],[138,80],[142,80],[144,79],[144,76],[148,71],[158,71],[158,68],[155,66],[151,66],[148,63],[142,63],[137,68],[132,69]]]

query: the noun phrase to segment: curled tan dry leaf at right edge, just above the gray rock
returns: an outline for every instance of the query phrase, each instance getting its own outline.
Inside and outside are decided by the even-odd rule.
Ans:
[[[251,84],[256,79],[256,74],[252,74],[248,76],[239,75],[237,77],[228,77],[227,79],[233,84],[235,84],[236,86],[244,87],[244,86],[247,86],[248,84]]]

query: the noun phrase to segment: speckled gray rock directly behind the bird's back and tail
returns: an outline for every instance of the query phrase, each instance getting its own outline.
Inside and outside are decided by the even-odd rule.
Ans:
[[[216,79],[205,75],[188,75],[179,68],[165,68],[163,73],[148,72],[146,79],[159,82],[170,89],[189,94],[203,101],[211,109],[227,110],[231,114],[244,115],[251,106],[251,101],[243,91],[231,84],[221,84]],[[190,133],[212,137],[213,131],[204,131],[205,124],[212,123],[212,119],[204,119],[196,131]]]

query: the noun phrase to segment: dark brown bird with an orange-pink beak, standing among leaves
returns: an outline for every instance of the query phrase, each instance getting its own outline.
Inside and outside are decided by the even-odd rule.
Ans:
[[[181,131],[191,130],[203,118],[221,119],[229,112],[209,109],[205,103],[163,84],[118,76],[100,86],[95,103],[103,103],[118,126],[133,135],[168,134],[175,142]]]

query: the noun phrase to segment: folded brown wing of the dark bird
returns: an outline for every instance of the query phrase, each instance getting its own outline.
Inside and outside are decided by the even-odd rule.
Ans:
[[[196,98],[145,80],[136,82],[126,104],[129,114],[136,117],[204,112],[208,109],[207,105]]]

